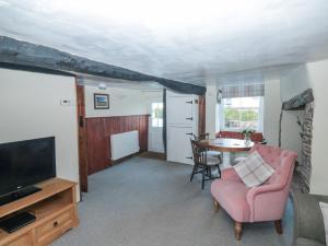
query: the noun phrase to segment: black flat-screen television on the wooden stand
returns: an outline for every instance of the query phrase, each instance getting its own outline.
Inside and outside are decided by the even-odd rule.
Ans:
[[[0,196],[55,176],[55,137],[0,144]]]

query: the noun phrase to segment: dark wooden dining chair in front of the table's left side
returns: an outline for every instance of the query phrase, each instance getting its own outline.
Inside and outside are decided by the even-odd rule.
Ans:
[[[190,176],[190,181],[192,181],[195,174],[201,174],[201,189],[204,187],[204,181],[212,180],[221,177],[220,161],[216,157],[208,156],[208,151],[206,148],[201,147],[198,140],[190,140],[194,155],[194,168]],[[218,168],[219,176],[212,176],[212,167]]]

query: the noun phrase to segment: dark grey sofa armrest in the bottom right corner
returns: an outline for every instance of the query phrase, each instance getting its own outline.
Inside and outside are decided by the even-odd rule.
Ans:
[[[327,196],[294,192],[294,242],[298,237],[326,244],[325,225],[319,201],[328,202]]]

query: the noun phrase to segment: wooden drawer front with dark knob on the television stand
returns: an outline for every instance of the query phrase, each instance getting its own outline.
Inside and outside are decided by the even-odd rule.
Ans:
[[[58,216],[49,220],[36,229],[36,238],[38,243],[49,238],[56,238],[68,230],[73,222],[73,210],[70,209]]]

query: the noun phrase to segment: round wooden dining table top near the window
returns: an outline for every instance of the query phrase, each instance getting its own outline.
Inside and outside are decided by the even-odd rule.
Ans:
[[[242,139],[207,139],[201,140],[200,144],[204,148],[219,152],[245,152],[249,151],[254,145],[254,142]]]

